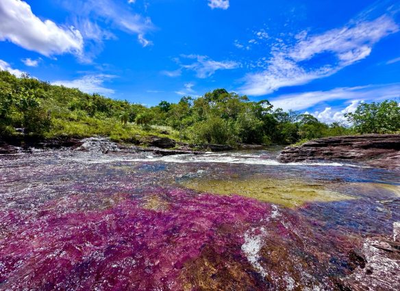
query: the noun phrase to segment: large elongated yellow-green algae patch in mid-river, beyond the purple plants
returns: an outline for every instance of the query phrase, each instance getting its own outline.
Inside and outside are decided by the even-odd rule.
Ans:
[[[307,183],[295,179],[192,179],[186,188],[221,195],[238,194],[259,201],[286,207],[297,207],[307,202],[329,202],[353,199],[327,189],[323,184]]]

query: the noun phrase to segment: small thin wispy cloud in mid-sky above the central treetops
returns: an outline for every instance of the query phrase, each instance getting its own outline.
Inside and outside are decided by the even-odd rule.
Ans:
[[[211,77],[218,70],[232,70],[238,68],[240,64],[234,61],[214,61],[207,55],[182,55],[182,58],[196,60],[192,64],[181,64],[182,68],[195,71],[196,76],[204,79]]]

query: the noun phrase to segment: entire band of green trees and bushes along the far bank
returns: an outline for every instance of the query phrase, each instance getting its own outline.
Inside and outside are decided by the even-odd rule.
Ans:
[[[136,142],[140,136],[155,135],[193,144],[294,144],[325,136],[400,131],[397,101],[361,103],[347,118],[351,127],[327,125],[310,114],[284,112],[267,100],[250,101],[224,89],[146,107],[0,71],[3,138],[99,135]]]

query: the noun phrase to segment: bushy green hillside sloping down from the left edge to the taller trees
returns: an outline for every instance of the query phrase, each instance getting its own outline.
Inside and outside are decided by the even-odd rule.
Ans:
[[[126,142],[149,135],[178,138],[172,128],[161,131],[150,126],[149,113],[143,105],[0,71],[1,137],[17,135],[21,130],[16,129],[23,129],[25,136],[38,138],[99,135]]]

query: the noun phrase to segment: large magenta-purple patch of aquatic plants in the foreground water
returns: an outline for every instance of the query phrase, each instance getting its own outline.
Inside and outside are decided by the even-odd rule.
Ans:
[[[129,199],[101,211],[40,212],[1,242],[1,286],[179,289],[185,262],[195,259],[205,244],[224,246],[218,227],[231,225],[229,239],[240,244],[248,225],[270,211],[240,197],[193,197],[182,190],[158,194],[170,204],[168,212],[146,210]],[[75,202],[58,201],[71,208]],[[1,223],[17,219],[1,216]]]

